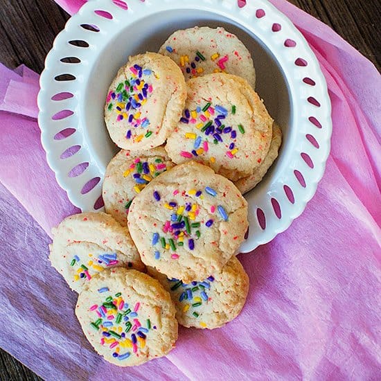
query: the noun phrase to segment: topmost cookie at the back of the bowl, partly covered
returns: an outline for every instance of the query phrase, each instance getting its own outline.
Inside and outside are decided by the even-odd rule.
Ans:
[[[230,73],[256,86],[254,63],[246,46],[224,28],[177,30],[159,49],[180,67],[186,80],[211,73]]]

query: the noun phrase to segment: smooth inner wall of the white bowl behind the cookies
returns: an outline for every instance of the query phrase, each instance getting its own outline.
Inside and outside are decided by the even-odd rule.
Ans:
[[[145,51],[157,52],[163,42],[175,30],[193,26],[223,26],[236,34],[247,46],[256,67],[256,91],[263,98],[269,114],[281,125],[283,130],[282,152],[287,150],[290,140],[291,100],[287,81],[276,57],[256,37],[254,33],[240,26],[236,21],[222,17],[217,13],[200,10],[170,10],[140,19],[139,22],[121,28],[114,39],[100,52],[99,59],[92,63],[89,82],[85,84],[86,98],[80,100],[82,125],[85,126],[87,143],[93,149],[94,162],[98,163],[101,172],[112,159],[118,148],[109,139],[105,127],[103,108],[107,89],[119,67],[127,62],[129,55]],[[267,186],[267,182],[276,176],[280,166],[276,164],[267,173],[265,179],[256,187]]]

